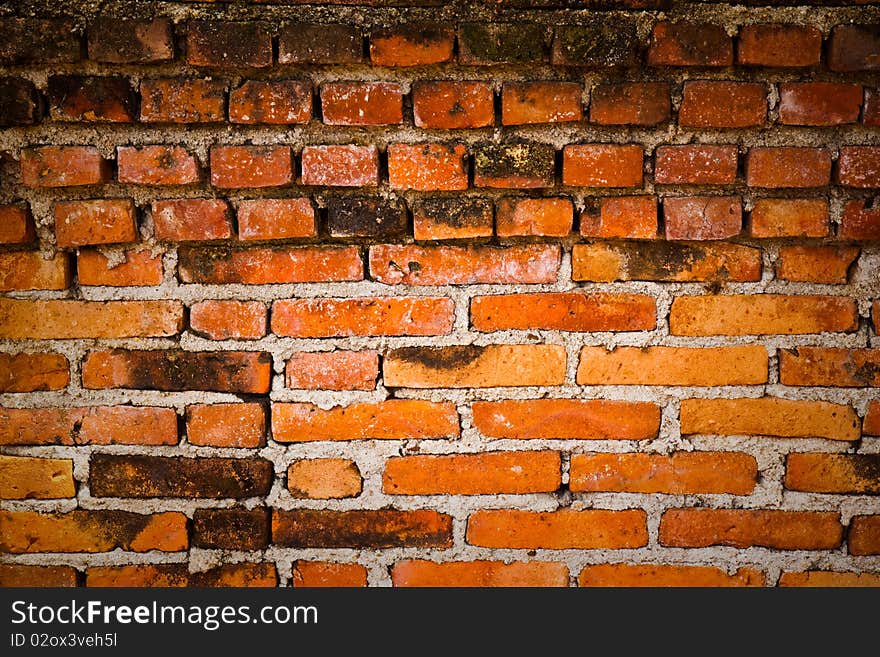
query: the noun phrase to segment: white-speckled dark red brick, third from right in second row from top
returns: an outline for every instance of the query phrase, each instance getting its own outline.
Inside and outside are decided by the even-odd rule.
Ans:
[[[754,82],[684,83],[678,123],[688,128],[750,128],[764,124],[767,90]]]

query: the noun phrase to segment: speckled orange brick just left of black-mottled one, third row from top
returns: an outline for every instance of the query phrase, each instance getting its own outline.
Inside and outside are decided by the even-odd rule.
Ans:
[[[422,192],[467,189],[467,150],[463,144],[389,144],[388,182]]]

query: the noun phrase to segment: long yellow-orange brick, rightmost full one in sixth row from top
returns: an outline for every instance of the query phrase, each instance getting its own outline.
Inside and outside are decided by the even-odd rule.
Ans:
[[[852,332],[858,323],[850,298],[785,294],[677,297],[669,316],[673,335]]]

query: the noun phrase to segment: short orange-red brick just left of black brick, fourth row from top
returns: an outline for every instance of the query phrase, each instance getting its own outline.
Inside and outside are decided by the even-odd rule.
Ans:
[[[284,240],[315,235],[315,208],[308,198],[253,199],[238,204],[240,240]]]

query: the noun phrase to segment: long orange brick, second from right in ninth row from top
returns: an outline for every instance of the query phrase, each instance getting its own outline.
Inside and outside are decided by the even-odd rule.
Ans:
[[[749,495],[758,463],[738,452],[574,454],[569,487],[574,492]]]

